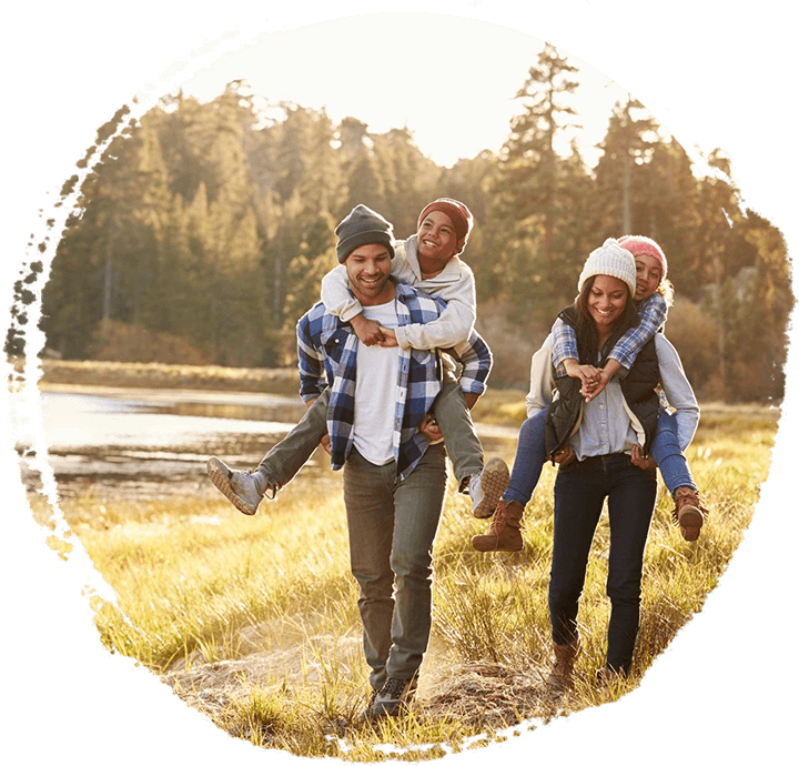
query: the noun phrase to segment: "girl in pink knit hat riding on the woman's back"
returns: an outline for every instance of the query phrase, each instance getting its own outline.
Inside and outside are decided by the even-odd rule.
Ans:
[[[615,241],[615,240],[614,240]],[[623,236],[618,245],[635,256],[636,290],[634,301],[638,322],[630,326],[614,345],[604,366],[590,361],[580,364],[574,329],[562,318],[553,326],[552,363],[559,380],[568,375],[580,381],[580,393],[586,402],[595,399],[610,380],[624,377],[635,363],[640,349],[663,329],[674,288],[667,279],[666,255],[654,240],[646,236]],[[657,431],[645,454],[636,448],[633,458],[639,467],[660,467],[660,475],[675,501],[672,517],[682,537],[696,541],[707,511],[701,506],[699,492],[685,457],[690,443],[685,434],[677,433],[677,420],[668,402],[664,402]],[[528,413],[529,415],[529,413]],[[507,491],[497,504],[489,532],[474,537],[477,551],[520,551],[524,508],[533,496],[542,468],[547,460],[564,464],[574,460],[566,446],[559,454],[548,454],[544,444],[546,411],[534,413],[519,431],[516,460]],[[692,436],[692,434],[691,434]]]

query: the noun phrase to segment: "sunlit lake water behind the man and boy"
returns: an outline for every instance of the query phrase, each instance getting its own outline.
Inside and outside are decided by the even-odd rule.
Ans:
[[[41,392],[39,406],[60,498],[85,491],[142,500],[213,494],[205,474],[211,455],[255,467],[305,412],[296,396],[75,386]],[[513,429],[477,429],[486,448],[516,437]],[[16,446],[26,488],[39,490],[41,475],[30,467],[33,440]],[[330,472],[330,458],[317,450],[303,471]]]

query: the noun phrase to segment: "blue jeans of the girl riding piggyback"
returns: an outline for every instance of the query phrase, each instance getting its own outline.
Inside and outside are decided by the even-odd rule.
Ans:
[[[516,501],[524,507],[533,497],[542,468],[547,461],[544,446],[544,426],[549,409],[527,419],[519,430],[516,458],[510,472],[510,483],[503,495],[506,503]],[[697,491],[688,462],[677,440],[677,417],[660,410],[655,436],[649,450],[660,468],[660,475],[668,491],[674,493],[681,486]]]

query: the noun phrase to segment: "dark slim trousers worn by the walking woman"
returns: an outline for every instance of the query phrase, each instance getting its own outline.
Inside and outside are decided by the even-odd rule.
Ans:
[[[655,468],[643,471],[625,454],[574,461],[560,467],[555,480],[549,578],[553,639],[556,644],[568,644],[577,634],[588,554],[607,497],[610,522],[607,667],[625,673],[629,673],[638,635],[644,548],[656,495]]]

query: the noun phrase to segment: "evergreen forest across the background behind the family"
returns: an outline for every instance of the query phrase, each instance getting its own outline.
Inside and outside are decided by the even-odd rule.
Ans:
[[[666,334],[700,399],[779,402],[795,298],[780,229],[747,206],[729,157],[689,153],[633,97],[588,168],[555,151],[574,70],[547,46],[498,153],[442,168],[407,129],[270,104],[236,81],[180,91],[115,137],[80,185],[42,292],[43,353],[243,367],[295,364],[294,327],[336,264],[334,229],[364,203],[415,232],[438,196],[476,225],[463,255],[495,386],[527,386],[530,354],[608,236],[663,246],[676,300]]]

